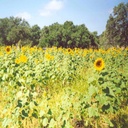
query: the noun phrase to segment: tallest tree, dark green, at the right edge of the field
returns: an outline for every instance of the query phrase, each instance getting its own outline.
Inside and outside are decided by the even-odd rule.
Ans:
[[[114,7],[106,25],[106,41],[112,46],[128,46],[128,3]]]

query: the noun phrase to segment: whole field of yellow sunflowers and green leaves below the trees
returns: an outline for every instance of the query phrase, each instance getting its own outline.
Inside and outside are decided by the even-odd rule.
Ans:
[[[0,128],[128,128],[128,48],[0,47]]]

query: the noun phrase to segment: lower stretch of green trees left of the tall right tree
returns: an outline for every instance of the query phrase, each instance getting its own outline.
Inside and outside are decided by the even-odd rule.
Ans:
[[[38,25],[30,27],[21,18],[0,19],[1,45],[38,45],[40,47],[81,47],[98,46],[98,36],[82,25],[74,25],[72,21],[64,24],[54,23],[40,29]]]

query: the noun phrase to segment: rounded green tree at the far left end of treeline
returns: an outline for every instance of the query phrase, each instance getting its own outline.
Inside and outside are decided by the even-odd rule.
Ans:
[[[30,43],[30,26],[28,22],[21,18],[0,19],[0,41],[5,45],[15,45],[18,41]]]

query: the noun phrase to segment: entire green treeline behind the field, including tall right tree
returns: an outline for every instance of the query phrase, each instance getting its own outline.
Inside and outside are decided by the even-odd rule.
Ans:
[[[0,19],[0,45],[29,45],[39,47],[98,48],[128,46],[128,3],[114,7],[106,30],[97,35],[84,25],[54,23],[40,28],[18,17]]]

